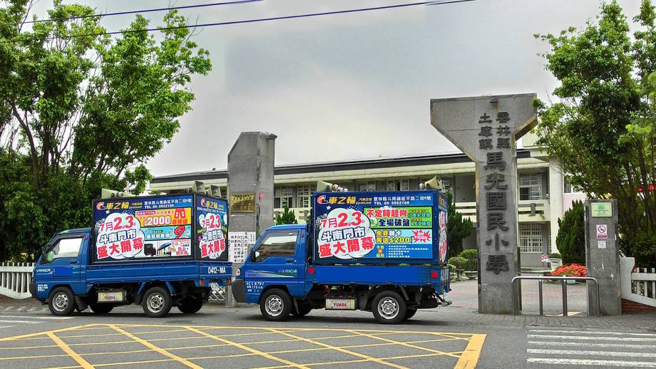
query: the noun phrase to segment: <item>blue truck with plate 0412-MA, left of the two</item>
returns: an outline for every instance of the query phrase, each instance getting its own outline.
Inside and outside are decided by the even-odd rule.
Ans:
[[[43,247],[30,284],[51,313],[141,304],[195,313],[212,289],[230,284],[227,202],[201,194],[101,199],[93,228],[71,229]]]

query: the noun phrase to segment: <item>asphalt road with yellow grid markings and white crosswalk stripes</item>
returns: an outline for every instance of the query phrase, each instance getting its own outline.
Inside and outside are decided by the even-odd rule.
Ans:
[[[363,311],[312,311],[271,323],[259,308],[207,305],[147,318],[51,316],[36,301],[0,301],[0,368],[656,368],[656,316],[490,316],[419,311],[376,324]]]

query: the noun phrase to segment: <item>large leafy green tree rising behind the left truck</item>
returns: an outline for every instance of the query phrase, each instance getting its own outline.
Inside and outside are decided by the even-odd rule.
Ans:
[[[155,36],[135,16],[112,37],[96,9],[54,1],[50,19],[22,23],[32,2],[0,9],[0,256],[34,253],[55,232],[90,226],[102,187],[141,193],[143,162],[178,131],[194,74],[211,65],[175,11]],[[34,17],[36,19],[36,16]],[[20,168],[20,172],[11,169]],[[6,182],[5,182],[6,181]]]

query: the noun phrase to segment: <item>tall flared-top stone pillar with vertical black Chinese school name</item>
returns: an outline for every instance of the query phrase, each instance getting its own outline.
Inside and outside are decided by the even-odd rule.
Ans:
[[[513,312],[518,267],[516,140],[535,125],[535,94],[431,100],[431,124],[476,163],[478,312]],[[516,290],[518,293],[518,290]]]

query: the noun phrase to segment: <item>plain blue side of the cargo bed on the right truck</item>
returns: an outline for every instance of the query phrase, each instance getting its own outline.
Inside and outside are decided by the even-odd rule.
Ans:
[[[373,266],[373,265],[312,265],[314,274],[307,273],[312,284],[395,284],[402,286],[435,286],[449,291],[449,272],[436,266]],[[308,269],[309,269],[308,268]],[[436,272],[436,278],[431,274]],[[438,291],[441,293],[442,291]]]

